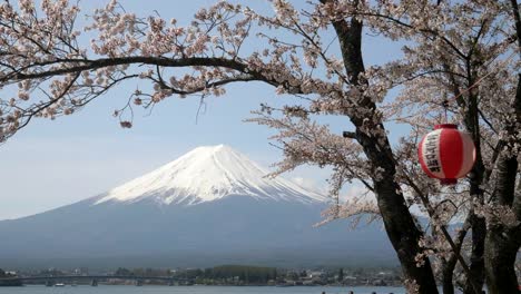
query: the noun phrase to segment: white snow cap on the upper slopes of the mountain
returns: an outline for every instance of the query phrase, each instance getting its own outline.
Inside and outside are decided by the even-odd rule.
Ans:
[[[304,204],[327,202],[323,195],[291,180],[266,178],[267,174],[267,170],[228,146],[198,147],[110,190],[95,205],[107,202],[136,203],[150,198],[163,205],[194,205],[233,195]]]

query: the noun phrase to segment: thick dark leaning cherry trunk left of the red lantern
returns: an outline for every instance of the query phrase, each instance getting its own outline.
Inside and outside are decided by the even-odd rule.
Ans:
[[[321,0],[328,3],[331,0]],[[350,81],[353,87],[364,84],[360,80],[360,75],[364,72],[364,61],[362,56],[362,29],[363,23],[356,19],[336,20],[333,27],[338,36],[342,57],[344,60]],[[405,278],[414,281],[420,287],[420,293],[438,293],[434,274],[430,261],[426,259],[421,266],[416,265],[415,256],[422,252],[419,241],[422,232],[416,227],[414,219],[405,204],[405,198],[401,194],[400,185],[394,180],[396,164],[394,161],[391,145],[385,135],[385,129],[375,111],[375,104],[363,97],[358,105],[365,111],[360,111],[350,119],[356,127],[355,138],[362,145],[365,155],[372,163],[374,192],[377,199],[380,213],[383,218],[387,236],[396,251],[402,265]],[[370,122],[372,126],[365,125]],[[380,135],[368,135],[364,129],[380,128]],[[379,170],[377,170],[379,169]]]

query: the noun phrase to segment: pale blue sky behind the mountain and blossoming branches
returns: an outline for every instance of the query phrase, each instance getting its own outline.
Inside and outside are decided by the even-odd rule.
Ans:
[[[82,1],[81,13],[90,13],[106,2]],[[271,11],[268,1],[240,2]],[[157,10],[166,19],[186,23],[198,8],[215,1],[121,0],[121,3],[139,16]],[[366,36],[363,47],[370,65],[400,55],[400,45],[374,37]],[[228,87],[226,96],[206,100],[206,111],[199,115],[197,124],[197,99],[167,99],[150,116],[138,112],[134,128],[121,129],[111,112],[122,106],[134,89],[129,87],[132,85],[116,88],[73,116],[55,121],[35,120],[0,146],[0,219],[95,196],[201,145],[229,145],[264,166],[281,159],[279,150],[268,145],[272,130],[242,122],[252,117],[249,111],[260,102],[281,104],[287,99],[276,96],[271,87],[260,84]],[[344,121],[345,118],[332,119],[332,128],[342,131],[347,125]],[[306,183],[323,188],[327,170],[299,168],[285,176],[305,178]]]

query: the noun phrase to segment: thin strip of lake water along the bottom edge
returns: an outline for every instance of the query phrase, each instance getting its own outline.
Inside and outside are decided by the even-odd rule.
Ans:
[[[295,287],[229,287],[229,286],[24,286],[0,287],[0,294],[405,294],[405,290],[399,287],[327,287],[327,286],[295,286]]]

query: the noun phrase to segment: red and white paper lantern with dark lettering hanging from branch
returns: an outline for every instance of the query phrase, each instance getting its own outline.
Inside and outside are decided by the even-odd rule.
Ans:
[[[443,185],[454,185],[472,169],[475,147],[471,136],[456,125],[436,125],[420,141],[417,157],[425,174]]]

